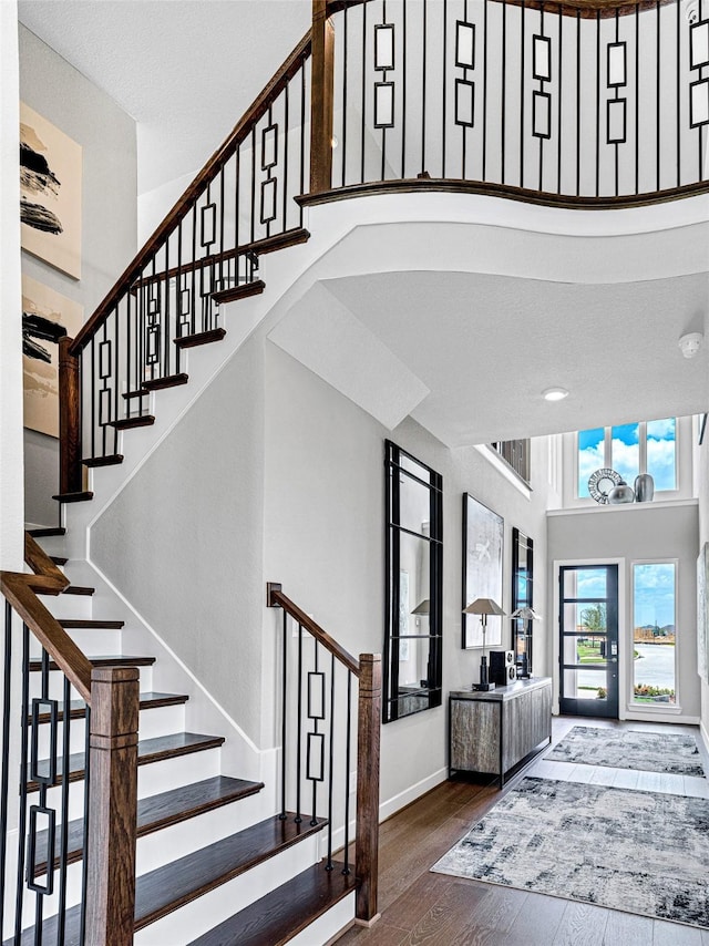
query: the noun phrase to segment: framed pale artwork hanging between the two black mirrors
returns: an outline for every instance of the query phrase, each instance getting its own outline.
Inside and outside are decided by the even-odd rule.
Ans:
[[[504,520],[470,493],[463,493],[463,608],[475,598],[492,598],[502,607]],[[476,615],[463,614],[462,647],[483,646]],[[502,644],[502,617],[487,618],[485,645]]]

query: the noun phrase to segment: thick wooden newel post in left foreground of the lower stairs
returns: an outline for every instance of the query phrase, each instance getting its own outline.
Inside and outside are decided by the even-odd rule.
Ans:
[[[131,946],[135,912],[138,671],[91,673],[86,943]]]

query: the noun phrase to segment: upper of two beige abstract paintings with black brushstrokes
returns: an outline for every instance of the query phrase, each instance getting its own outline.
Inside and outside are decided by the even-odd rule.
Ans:
[[[20,102],[22,249],[81,278],[82,148]]]

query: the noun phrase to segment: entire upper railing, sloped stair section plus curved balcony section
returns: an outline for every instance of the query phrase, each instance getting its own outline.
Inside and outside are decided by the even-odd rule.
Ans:
[[[121,461],[299,204],[453,191],[614,208],[709,191],[709,0],[314,0],[312,29],[62,356],[60,493]]]

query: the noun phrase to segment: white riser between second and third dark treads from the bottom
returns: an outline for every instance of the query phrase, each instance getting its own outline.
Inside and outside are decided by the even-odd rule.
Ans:
[[[137,873],[146,874],[255,824],[263,818],[258,805],[258,798],[251,795],[146,834],[137,842]]]

